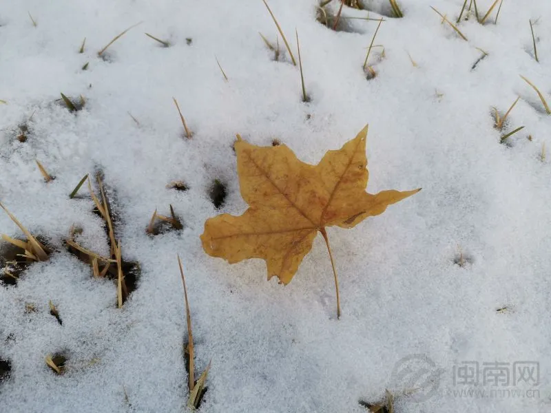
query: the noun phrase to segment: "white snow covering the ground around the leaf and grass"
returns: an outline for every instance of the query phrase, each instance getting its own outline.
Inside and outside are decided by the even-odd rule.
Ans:
[[[389,14],[386,0],[362,3],[373,19]],[[551,104],[551,3],[504,0],[497,24],[499,3],[484,25],[464,12],[459,30],[468,41],[429,7],[455,22],[463,3],[399,1],[404,18],[385,17],[375,39],[384,56],[381,47],[371,51],[377,76],[366,80],[377,21],[345,19],[347,31],[335,32],[316,21],[315,0],[271,0],[295,56],[298,30],[311,97],[303,103],[281,37],[274,61],[258,35],[275,45],[260,0],[1,0],[0,201],[56,252],[16,286],[0,286],[0,359],[11,365],[0,410],[186,410],[178,253],[196,372],[212,360],[202,412],[366,412],[358,401],[381,401],[385,389],[395,412],[550,412],[551,164],[542,153],[551,148],[551,116],[519,75]],[[480,17],[492,3],[477,1]],[[326,10],[338,6],[333,0]],[[97,56],[141,21],[105,59]],[[488,55],[472,70],[481,50]],[[85,107],[70,113],[60,92],[82,95]],[[517,96],[495,129],[492,107],[503,115]],[[23,123],[27,140],[19,142]],[[232,151],[237,133],[256,145],[278,138],[317,163],[366,123],[368,191],[423,191],[354,229],[328,229],[340,320],[322,237],[288,286],[267,282],[260,260],[230,265],[204,253],[205,220],[247,208]],[[45,183],[35,160],[56,179]],[[122,309],[116,284],[93,279],[63,246],[74,225],[83,246],[109,255],[86,185],[68,196],[98,170],[123,258],[141,264]],[[189,189],[167,189],[174,180]],[[227,187],[220,209],[209,196],[214,180]],[[147,235],[153,211],[169,215],[169,204],[184,229]],[[0,232],[21,238],[0,212]],[[44,361],[56,352],[68,358],[63,375]],[[478,363],[478,386],[462,384],[475,378],[468,361]],[[486,393],[461,393],[473,388]]]

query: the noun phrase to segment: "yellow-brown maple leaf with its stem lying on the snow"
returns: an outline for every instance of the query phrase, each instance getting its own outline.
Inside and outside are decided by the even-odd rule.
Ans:
[[[249,209],[240,216],[223,213],[205,222],[205,252],[230,264],[262,258],[268,279],[288,284],[320,232],[338,282],[326,226],[352,228],[413,191],[365,191],[368,180],[364,127],[341,149],[327,151],[318,165],[298,160],[286,145],[258,147],[238,136],[235,144],[241,195]]]

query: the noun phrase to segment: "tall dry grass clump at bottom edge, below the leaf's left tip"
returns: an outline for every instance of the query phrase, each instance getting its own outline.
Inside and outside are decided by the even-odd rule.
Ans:
[[[189,300],[187,299],[187,288],[185,285],[184,270],[182,268],[182,262],[180,261],[180,255],[178,257],[178,268],[180,269],[180,277],[184,287],[184,299],[185,299],[185,315],[187,324],[187,344],[184,345],[184,356],[186,361],[187,370],[187,388],[189,390],[189,397],[187,399],[187,406],[191,409],[199,407],[202,397],[207,392],[205,383],[209,375],[211,362],[200,375],[199,379],[195,381],[195,351],[194,351],[194,336],[191,329],[191,312],[189,311]]]

